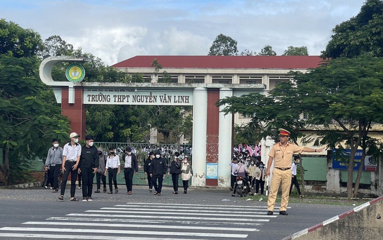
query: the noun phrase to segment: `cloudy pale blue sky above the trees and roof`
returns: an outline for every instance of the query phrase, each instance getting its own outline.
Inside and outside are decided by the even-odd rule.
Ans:
[[[239,52],[307,46],[320,55],[332,29],[365,0],[0,0],[0,18],[59,35],[112,65],[137,55],[207,55],[219,34]]]

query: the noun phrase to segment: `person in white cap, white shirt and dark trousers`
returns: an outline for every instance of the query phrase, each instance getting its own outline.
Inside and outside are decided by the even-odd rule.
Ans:
[[[80,162],[81,145],[78,144],[78,135],[75,132],[70,133],[70,143],[64,145],[63,149],[63,163],[61,164],[63,171],[63,182],[61,183],[61,195],[59,200],[64,200],[65,188],[67,186],[68,176],[73,180],[70,184],[70,200],[78,201],[74,197],[76,192],[76,178],[77,178],[77,166]]]

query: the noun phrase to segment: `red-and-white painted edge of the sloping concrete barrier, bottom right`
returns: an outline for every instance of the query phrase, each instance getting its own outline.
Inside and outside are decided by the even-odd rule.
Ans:
[[[372,204],[374,204],[374,203],[376,203],[376,202],[378,202],[378,201],[380,201],[380,200],[383,200],[383,196],[381,196],[381,197],[379,197],[379,198],[376,198],[376,199],[374,199],[374,200],[368,201],[368,202],[366,202],[366,203],[363,203],[363,204],[361,204],[361,205],[359,205],[359,206],[357,206],[357,207],[354,207],[354,208],[353,208],[352,210],[350,210],[350,211],[344,212],[344,213],[339,214],[339,215],[337,215],[337,216],[335,216],[335,217],[332,217],[332,218],[330,218],[330,219],[327,219],[327,220],[325,220],[325,221],[323,221],[323,222],[321,222],[321,223],[318,223],[318,224],[316,224],[316,225],[314,225],[314,226],[312,226],[312,227],[310,227],[310,228],[307,228],[307,229],[304,229],[304,230],[302,230],[302,231],[300,231],[300,232],[297,232],[297,233],[295,233],[295,234],[293,234],[293,235],[291,235],[291,236],[288,236],[287,238],[284,238],[284,239],[282,239],[282,240],[293,240],[293,239],[298,239],[299,237],[301,237],[301,236],[303,236],[303,235],[305,235],[305,234],[308,234],[308,233],[310,233],[310,232],[313,232],[314,230],[319,229],[319,228],[321,228],[321,227],[323,227],[323,226],[326,226],[326,225],[329,224],[329,223],[338,221],[339,219],[342,219],[342,218],[344,218],[344,217],[347,217],[347,216],[349,216],[349,215],[352,215],[353,213],[358,212],[358,211],[360,211],[360,210],[362,210],[362,209],[368,207],[369,205],[372,205]]]

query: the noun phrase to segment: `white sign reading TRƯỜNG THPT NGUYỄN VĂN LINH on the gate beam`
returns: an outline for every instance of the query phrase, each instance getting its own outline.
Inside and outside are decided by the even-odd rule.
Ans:
[[[84,104],[193,105],[193,90],[84,88]]]

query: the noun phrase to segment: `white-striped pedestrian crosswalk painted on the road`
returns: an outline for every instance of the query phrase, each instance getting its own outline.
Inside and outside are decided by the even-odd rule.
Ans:
[[[0,238],[92,240],[246,239],[278,215],[266,206],[125,203],[20,227],[0,228]],[[252,238],[251,238],[252,239]]]

